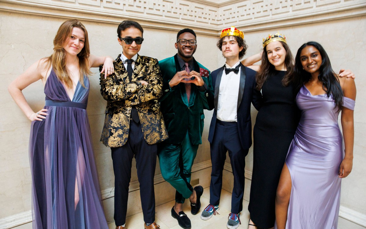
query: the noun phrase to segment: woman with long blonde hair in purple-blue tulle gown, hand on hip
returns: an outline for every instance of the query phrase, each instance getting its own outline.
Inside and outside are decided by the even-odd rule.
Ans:
[[[90,55],[85,27],[64,22],[53,40],[53,54],[30,66],[9,92],[32,121],[29,155],[33,228],[107,229],[86,113],[90,67],[113,60]],[[33,112],[22,90],[42,80],[45,107]]]

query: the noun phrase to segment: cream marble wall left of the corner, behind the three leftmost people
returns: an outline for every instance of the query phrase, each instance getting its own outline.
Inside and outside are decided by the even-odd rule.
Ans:
[[[53,38],[58,27],[65,19],[49,16],[14,14],[0,11],[0,78],[3,84],[0,90],[3,94],[0,102],[3,104],[0,111],[4,114],[0,118],[1,151],[0,151],[0,228],[1,219],[11,217],[31,210],[30,168],[28,158],[28,142],[30,121],[16,106],[7,92],[12,80],[23,73],[38,59],[52,53]],[[122,19],[121,19],[122,21]],[[41,23],[42,22],[42,23]],[[88,30],[90,49],[93,55],[109,55],[114,58],[122,52],[117,42],[118,23],[100,23],[82,21]],[[176,30],[156,30],[144,27],[144,42],[139,54],[152,56],[158,60],[175,55]],[[195,58],[209,69],[217,67],[216,37],[207,34],[198,34],[197,53]],[[207,45],[210,44],[210,45]],[[208,56],[213,58],[207,58]],[[95,157],[98,167],[102,195],[105,198],[113,196],[114,176],[112,169],[111,151],[99,142],[104,122],[106,101],[100,95],[98,69],[92,69],[90,77],[90,94],[87,112]],[[44,106],[43,84],[41,81],[30,85],[23,93],[34,111]],[[205,113],[205,133],[207,139],[208,127],[212,111]],[[198,149],[195,164],[204,163],[210,159],[209,143],[203,141]],[[205,163],[204,167],[208,167]],[[199,168],[200,169],[200,168]],[[156,167],[156,176],[159,177],[160,168]],[[130,189],[138,188],[135,161],[132,165]],[[160,180],[162,180],[160,175]],[[112,194],[110,194],[112,192]],[[139,195],[137,195],[139,196]],[[169,199],[171,200],[171,199]],[[165,202],[161,202],[165,203]],[[6,207],[5,207],[6,206]]]

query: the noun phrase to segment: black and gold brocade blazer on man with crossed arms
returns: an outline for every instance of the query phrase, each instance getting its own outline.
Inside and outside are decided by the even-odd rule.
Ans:
[[[120,56],[113,62],[115,72],[112,75],[104,79],[104,72],[100,74],[100,91],[107,100],[101,143],[107,147],[126,144],[132,105],[137,109],[146,142],[155,144],[164,141],[168,138],[168,132],[158,102],[163,86],[158,60],[138,55],[130,82]],[[140,80],[149,84],[142,86]]]

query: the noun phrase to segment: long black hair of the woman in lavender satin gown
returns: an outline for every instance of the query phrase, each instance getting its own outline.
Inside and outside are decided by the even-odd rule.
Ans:
[[[320,65],[320,73],[318,75],[319,81],[323,83],[323,90],[326,92],[326,95],[332,96],[334,99],[338,110],[341,109],[343,106],[343,91],[341,85],[339,84],[339,79],[336,73],[333,71],[332,66],[330,65],[330,60],[328,54],[326,54],[324,48],[315,41],[309,41],[299,48],[298,52],[296,53],[295,57],[295,75],[297,82],[297,89],[300,90],[302,85],[305,82],[308,82],[311,78],[311,74],[305,71],[302,67],[300,55],[302,49],[306,46],[314,46],[316,49],[319,50],[322,63]]]

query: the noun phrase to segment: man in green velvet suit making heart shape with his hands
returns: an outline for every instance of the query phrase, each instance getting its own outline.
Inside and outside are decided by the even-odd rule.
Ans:
[[[194,31],[180,30],[175,48],[175,56],[159,61],[163,75],[160,107],[169,138],[158,144],[158,157],[161,174],[176,189],[172,217],[182,228],[191,228],[182,204],[189,199],[193,215],[201,207],[203,188],[190,185],[191,168],[202,144],[203,109],[213,109],[213,87],[208,69],[193,58],[197,48]]]

